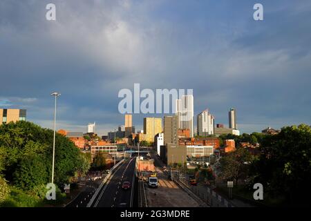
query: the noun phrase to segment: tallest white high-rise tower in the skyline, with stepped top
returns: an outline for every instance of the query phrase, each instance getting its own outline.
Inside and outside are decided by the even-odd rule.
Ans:
[[[189,129],[190,136],[194,136],[194,96],[183,95],[176,99],[176,115],[178,116],[178,129]]]

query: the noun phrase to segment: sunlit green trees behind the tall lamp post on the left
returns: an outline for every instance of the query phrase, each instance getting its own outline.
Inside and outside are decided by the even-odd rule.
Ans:
[[[22,191],[37,192],[37,197],[44,197],[43,186],[51,178],[52,156],[52,130],[25,121],[0,126],[0,173]],[[70,182],[71,177],[85,174],[90,159],[91,155],[82,155],[67,137],[56,134],[55,184],[61,187]],[[15,193],[10,198],[12,203]]]

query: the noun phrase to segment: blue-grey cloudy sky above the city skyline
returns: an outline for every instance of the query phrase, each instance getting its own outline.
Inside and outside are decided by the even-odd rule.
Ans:
[[[46,20],[46,5],[56,21]],[[263,21],[253,19],[255,3]],[[209,108],[241,133],[311,124],[311,1],[0,1],[0,108],[28,121],[100,135],[124,124],[123,88],[194,90],[196,115]],[[133,124],[142,129],[143,117]]]

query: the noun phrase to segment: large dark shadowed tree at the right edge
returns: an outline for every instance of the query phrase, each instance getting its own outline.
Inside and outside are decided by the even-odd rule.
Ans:
[[[285,195],[290,202],[307,200],[303,196],[311,186],[310,147],[311,129],[305,124],[287,126],[278,135],[266,137],[252,166],[254,182],[261,182],[270,194]]]

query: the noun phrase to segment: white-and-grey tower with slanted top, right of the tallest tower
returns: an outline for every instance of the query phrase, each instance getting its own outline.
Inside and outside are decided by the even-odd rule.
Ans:
[[[196,116],[197,133],[199,136],[214,135],[214,116],[209,110],[202,111]]]

